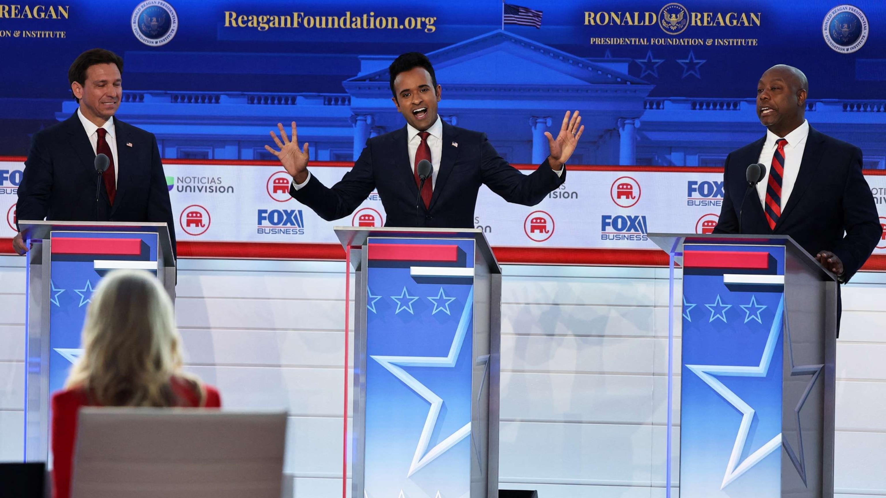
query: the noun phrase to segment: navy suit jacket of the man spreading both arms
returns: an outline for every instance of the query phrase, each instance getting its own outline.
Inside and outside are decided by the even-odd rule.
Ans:
[[[340,182],[327,188],[316,176],[293,198],[324,220],[354,212],[373,190],[385,206],[388,227],[474,228],[474,206],[480,185],[486,184],[508,202],[534,206],[566,180],[546,160],[531,175],[501,159],[485,133],[443,123],[442,157],[431,204],[416,210],[418,186],[407,149],[407,128],[369,138],[360,159]],[[455,145],[457,144],[457,145]]]

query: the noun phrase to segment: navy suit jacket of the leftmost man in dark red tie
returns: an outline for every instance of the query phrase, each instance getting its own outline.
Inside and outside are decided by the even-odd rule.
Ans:
[[[38,131],[19,184],[16,218],[73,222],[166,222],[175,252],[175,223],[157,138],[113,118],[117,136],[117,194],[105,183],[96,202],[96,153],[74,113]],[[132,146],[128,146],[132,144]]]

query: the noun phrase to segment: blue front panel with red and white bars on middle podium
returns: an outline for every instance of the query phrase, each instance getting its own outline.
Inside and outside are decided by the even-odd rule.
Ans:
[[[475,241],[367,242],[364,496],[468,495]]]

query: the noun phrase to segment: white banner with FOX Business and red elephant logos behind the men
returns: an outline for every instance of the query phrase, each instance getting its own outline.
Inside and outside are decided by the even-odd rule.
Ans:
[[[280,167],[229,164],[164,166],[180,241],[338,244],[336,225],[382,226],[376,192],[354,214],[326,222],[289,195]],[[15,203],[23,165],[0,161],[5,237],[15,234]],[[710,233],[723,198],[723,175],[692,167],[622,171],[573,167],[566,183],[537,206],[508,204],[480,190],[474,224],[494,246],[655,249],[649,232]],[[311,167],[326,185],[347,167]],[[529,173],[529,171],[524,171]],[[886,224],[886,175],[867,175]],[[886,239],[876,253],[886,253]]]

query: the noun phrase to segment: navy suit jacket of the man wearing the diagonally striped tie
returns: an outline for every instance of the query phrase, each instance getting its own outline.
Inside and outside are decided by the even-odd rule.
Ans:
[[[820,251],[835,253],[843,261],[843,282],[848,282],[882,234],[874,196],[861,174],[861,150],[810,127],[797,183],[775,229],[769,228],[754,189],[744,203],[739,232],[739,211],[748,189],[745,170],[758,162],[765,142],[766,136],[727,156],[726,195],[714,233],[789,235],[812,256]]]

